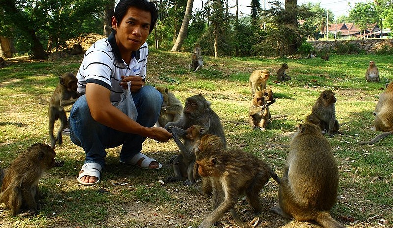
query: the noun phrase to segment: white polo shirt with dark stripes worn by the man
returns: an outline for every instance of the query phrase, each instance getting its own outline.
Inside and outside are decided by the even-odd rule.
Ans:
[[[87,83],[96,83],[111,90],[111,102],[120,101],[123,93],[119,85],[122,75],[146,77],[146,65],[149,49],[145,42],[138,51],[132,52],[130,64],[121,58],[114,33],[108,38],[96,41],[84,54],[77,73],[78,92],[86,91]]]

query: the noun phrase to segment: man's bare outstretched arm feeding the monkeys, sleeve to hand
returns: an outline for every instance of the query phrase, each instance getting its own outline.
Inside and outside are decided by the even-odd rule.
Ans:
[[[172,134],[162,127],[144,127],[130,119],[111,104],[110,93],[104,86],[94,83],[86,85],[86,100],[94,120],[115,130],[139,134],[160,142],[167,142],[172,137]]]

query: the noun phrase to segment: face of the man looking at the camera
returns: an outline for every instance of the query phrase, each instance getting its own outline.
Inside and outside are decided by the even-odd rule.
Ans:
[[[153,26],[150,23],[150,12],[135,7],[128,8],[119,25],[117,19],[112,17],[112,28],[116,30],[116,43],[120,51],[137,51],[147,40],[150,26]]]

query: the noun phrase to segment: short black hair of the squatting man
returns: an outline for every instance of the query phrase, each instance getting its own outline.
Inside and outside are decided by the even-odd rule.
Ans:
[[[127,13],[128,8],[135,7],[144,11],[148,11],[151,14],[150,31],[153,31],[154,25],[156,25],[158,10],[156,5],[147,0],[120,0],[114,10],[114,17],[117,20],[117,25],[120,25],[121,20],[123,20],[124,15]]]

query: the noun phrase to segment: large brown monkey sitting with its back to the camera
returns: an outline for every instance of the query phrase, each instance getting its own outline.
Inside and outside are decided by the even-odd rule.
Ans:
[[[344,228],[330,216],[338,191],[338,167],[329,141],[310,121],[300,124],[289,145],[279,184],[280,207],[270,210],[284,218],[316,221],[324,228]]]

